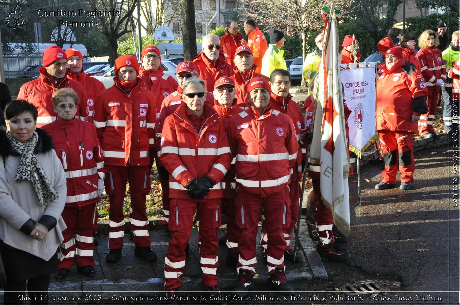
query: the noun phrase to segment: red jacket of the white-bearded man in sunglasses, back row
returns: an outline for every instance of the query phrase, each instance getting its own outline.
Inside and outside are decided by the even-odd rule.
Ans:
[[[200,51],[198,55],[193,58],[193,63],[196,65],[198,70],[198,77],[204,80],[206,84],[206,91],[213,92],[214,83],[222,76],[232,76],[233,70],[230,64],[227,63],[224,57],[224,53],[219,53],[217,62],[210,61],[203,51]]]

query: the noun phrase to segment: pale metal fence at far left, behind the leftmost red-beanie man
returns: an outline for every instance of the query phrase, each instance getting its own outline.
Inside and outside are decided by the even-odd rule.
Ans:
[[[3,53],[5,77],[35,77],[38,69],[43,66],[43,52],[34,53]]]

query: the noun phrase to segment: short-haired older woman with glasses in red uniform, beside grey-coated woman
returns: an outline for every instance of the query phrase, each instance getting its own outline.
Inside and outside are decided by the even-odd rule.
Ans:
[[[75,119],[78,96],[70,88],[53,94],[57,120],[43,126],[53,138],[54,149],[67,178],[67,198],[62,217],[67,225],[59,247],[56,279],[63,279],[77,262],[77,270],[86,277],[95,272],[92,240],[97,221],[99,195],[104,190],[104,158],[96,126]]]

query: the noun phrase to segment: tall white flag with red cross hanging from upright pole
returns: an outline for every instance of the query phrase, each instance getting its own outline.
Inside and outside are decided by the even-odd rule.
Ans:
[[[316,88],[317,109],[322,106],[322,116],[316,115],[309,162],[321,167],[321,199],[331,210],[334,223],[340,232],[350,234],[350,200],[348,175],[350,161],[345,137],[341,75],[339,69],[338,12],[328,12],[324,25],[324,46]]]

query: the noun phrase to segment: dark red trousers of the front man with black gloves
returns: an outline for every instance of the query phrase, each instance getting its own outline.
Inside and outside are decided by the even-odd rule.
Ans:
[[[185,269],[185,248],[189,243],[193,226],[193,215],[199,212],[202,216],[200,223],[200,265],[203,275],[203,285],[217,285],[217,267],[219,258],[217,245],[217,228],[220,226],[220,199],[209,199],[196,202],[186,199],[171,199],[169,231],[171,241],[165,257],[165,289],[178,288],[182,282],[180,275]]]

